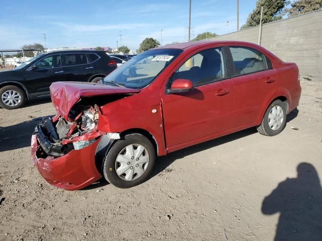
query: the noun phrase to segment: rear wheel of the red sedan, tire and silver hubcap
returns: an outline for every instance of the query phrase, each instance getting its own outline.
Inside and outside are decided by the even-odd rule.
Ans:
[[[267,108],[261,125],[257,127],[257,131],[262,135],[272,137],[280,134],[285,128],[285,124],[286,103],[277,99]]]

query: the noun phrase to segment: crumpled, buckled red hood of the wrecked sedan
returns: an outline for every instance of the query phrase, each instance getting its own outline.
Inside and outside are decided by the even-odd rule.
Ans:
[[[50,85],[51,101],[57,113],[63,116],[66,121],[71,107],[81,97],[138,92],[140,92],[139,89],[87,82],[54,82]]]

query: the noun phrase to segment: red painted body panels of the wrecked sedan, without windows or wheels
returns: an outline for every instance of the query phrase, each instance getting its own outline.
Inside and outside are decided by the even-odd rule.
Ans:
[[[271,60],[273,69],[198,86],[191,92],[166,94],[169,77],[187,59],[199,51],[225,45],[257,49]],[[137,93],[100,106],[97,130],[102,133],[144,130],[156,141],[157,154],[162,156],[259,125],[269,104],[279,96],[287,99],[288,112],[299,103],[297,66],[283,62],[261,46],[235,41],[198,41],[162,48],[182,48],[183,52],[141,90],[90,83],[52,84],[51,97],[57,112],[66,119],[72,105],[82,96]],[[83,188],[101,177],[95,167],[97,144],[98,141],[54,160],[36,159],[36,166],[57,187]],[[34,138],[32,150],[32,154],[37,150]]]

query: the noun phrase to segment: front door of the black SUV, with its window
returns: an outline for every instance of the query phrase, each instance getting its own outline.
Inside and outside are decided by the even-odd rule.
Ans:
[[[26,81],[32,86],[31,93],[48,92],[52,82],[65,80],[61,62],[60,54],[52,54],[36,62],[33,65],[36,69],[26,70]]]

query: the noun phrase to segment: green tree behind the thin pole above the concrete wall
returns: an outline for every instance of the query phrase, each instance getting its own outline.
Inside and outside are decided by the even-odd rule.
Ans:
[[[256,2],[256,8],[248,16],[246,24],[241,26],[240,29],[246,29],[259,25],[261,21],[262,7],[262,24],[282,19],[282,10],[286,4],[288,4],[288,1],[286,0],[258,0]]]

